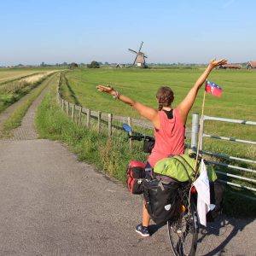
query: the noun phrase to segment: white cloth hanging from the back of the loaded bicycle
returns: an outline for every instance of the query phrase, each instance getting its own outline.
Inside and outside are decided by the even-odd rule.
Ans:
[[[207,167],[201,160],[201,173],[194,182],[197,191],[197,212],[199,221],[202,225],[207,226],[207,212],[210,211],[210,184],[207,175]]]

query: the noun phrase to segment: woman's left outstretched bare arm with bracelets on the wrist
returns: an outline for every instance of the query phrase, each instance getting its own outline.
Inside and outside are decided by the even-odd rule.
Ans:
[[[129,98],[128,96],[120,95],[119,92],[113,89],[110,86],[103,86],[98,85],[96,86],[97,90],[107,92],[112,96],[116,96],[119,98],[121,102],[130,105],[132,108],[136,109],[138,113],[140,113],[144,118],[148,119],[149,121],[155,123],[158,120],[158,111],[154,108],[150,108],[148,106],[143,105],[140,102],[136,102]]]

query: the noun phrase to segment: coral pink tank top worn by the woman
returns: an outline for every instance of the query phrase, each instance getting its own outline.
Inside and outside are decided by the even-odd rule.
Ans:
[[[172,119],[168,119],[164,111],[159,111],[159,115],[160,129],[154,128],[155,144],[148,156],[148,162],[152,167],[163,158],[184,153],[185,127],[179,110],[173,109]]]

